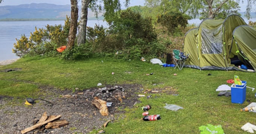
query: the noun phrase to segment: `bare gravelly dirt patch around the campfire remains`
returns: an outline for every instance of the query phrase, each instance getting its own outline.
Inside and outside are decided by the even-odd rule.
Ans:
[[[107,89],[115,86],[106,86]],[[124,108],[132,108],[134,103],[138,103],[138,92],[141,86],[138,84],[120,85],[118,90],[122,91],[122,103],[113,94],[120,94],[119,91],[113,93],[112,106],[109,107],[108,116],[100,115],[99,109],[92,105],[93,96],[103,97],[107,100],[106,93],[102,95],[102,89],[84,89],[83,91],[72,92],[70,90],[61,91],[51,86],[40,86],[42,98],[51,101],[54,105],[42,100],[36,101],[32,106],[26,106],[22,102],[10,104],[10,98],[0,96],[0,130],[1,133],[20,133],[21,130],[33,126],[36,119],[40,119],[44,112],[47,115],[62,115],[61,119],[66,119],[68,125],[61,128],[43,131],[31,131],[28,133],[89,133],[93,129],[99,129],[108,121],[115,121],[122,113]],[[123,95],[125,97],[123,97]],[[104,98],[105,97],[105,98]],[[25,102],[25,98],[24,98]],[[12,105],[12,106],[11,106]]]

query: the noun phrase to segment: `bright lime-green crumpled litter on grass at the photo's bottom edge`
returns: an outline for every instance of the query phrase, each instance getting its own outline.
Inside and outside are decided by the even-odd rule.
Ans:
[[[199,130],[201,131],[201,134],[224,134],[221,125],[213,126],[212,124],[207,124],[207,126],[200,126]]]

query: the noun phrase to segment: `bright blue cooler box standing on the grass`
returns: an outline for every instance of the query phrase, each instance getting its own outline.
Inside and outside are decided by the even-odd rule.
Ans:
[[[232,84],[231,86],[231,102],[243,104],[246,98],[246,81],[242,81],[242,85]]]

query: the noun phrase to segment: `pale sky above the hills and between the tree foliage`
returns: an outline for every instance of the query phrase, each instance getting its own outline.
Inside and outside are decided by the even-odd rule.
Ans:
[[[79,3],[81,3],[81,0],[78,0]],[[124,1],[120,0],[122,4],[122,8],[124,8]],[[196,0],[195,0],[196,1]],[[50,3],[50,4],[70,4],[70,0],[3,0],[0,6],[6,6],[6,5],[19,5],[19,4],[30,4],[30,3]],[[136,6],[141,5],[144,6],[145,0],[130,0],[129,6]],[[244,1],[239,3],[241,6],[241,11],[245,11],[247,1]]]

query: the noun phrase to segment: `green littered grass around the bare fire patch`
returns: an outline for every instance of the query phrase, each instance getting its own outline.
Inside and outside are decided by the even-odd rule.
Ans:
[[[103,61],[103,62],[102,62]],[[149,61],[149,59],[147,59]],[[1,71],[12,68],[21,70]],[[112,75],[111,73],[115,74]],[[147,73],[153,75],[147,76]],[[173,73],[177,73],[174,76]],[[211,75],[207,75],[211,73]],[[56,58],[27,57],[16,63],[0,66],[0,95],[22,98],[38,94],[38,85],[59,89],[88,89],[106,84],[141,84],[143,89],[172,87],[172,94],[151,94],[141,98],[134,108],[125,108],[125,117],[108,124],[106,133],[200,133],[202,125],[220,124],[225,133],[247,133],[241,130],[246,123],[256,124],[253,112],[240,112],[249,103],[231,103],[230,97],[217,96],[216,88],[238,75],[247,86],[256,87],[255,73],[243,71],[196,70],[163,68],[158,64],[142,61],[120,61],[95,58],[85,61],[63,61]],[[228,84],[230,85],[230,84]],[[167,88],[171,89],[171,88]],[[246,100],[255,101],[255,91],[246,90]],[[146,94],[148,96],[149,94]],[[175,104],[184,109],[173,112],[164,105]],[[148,112],[160,114],[159,121],[141,121],[141,107],[151,105]],[[95,132],[95,131],[94,131]]]

